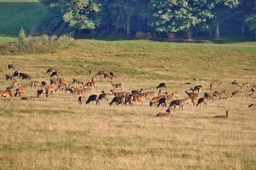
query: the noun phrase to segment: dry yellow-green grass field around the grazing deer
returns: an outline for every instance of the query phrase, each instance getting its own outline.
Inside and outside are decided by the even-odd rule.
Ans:
[[[52,54],[1,56],[0,88],[13,64],[32,80],[47,81],[48,68],[59,68],[61,77],[91,80],[99,70],[113,71],[123,91],[156,90],[165,82],[168,92],[222,81],[215,90],[239,90],[242,83],[256,85],[256,42],[169,43],[145,40],[76,40]],[[197,77],[198,81],[193,79]],[[231,85],[234,80],[238,85]],[[111,80],[97,78],[100,94]],[[30,82],[21,81],[22,85]],[[191,82],[191,85],[184,85]],[[217,83],[216,83],[217,84]],[[78,85],[76,85],[78,86]],[[119,91],[119,90],[118,90]],[[169,118],[155,118],[166,108],[147,101],[134,106],[79,106],[77,97],[57,92],[32,101],[0,98],[0,169],[256,169],[256,107],[245,88],[239,97],[207,102],[207,107],[172,111]],[[36,94],[36,88],[22,96]],[[200,96],[203,96],[201,94]],[[85,97],[87,100],[88,96]],[[214,119],[230,109],[229,119]]]

